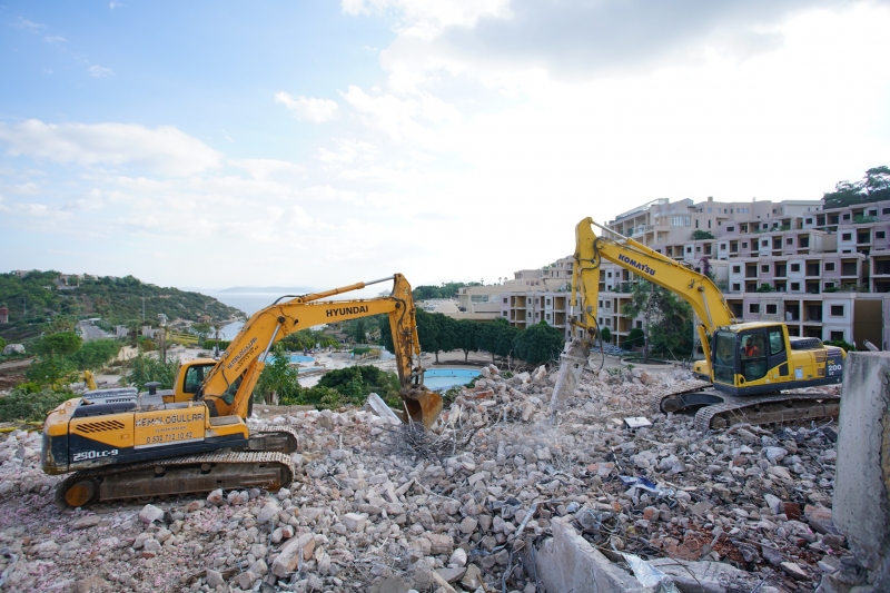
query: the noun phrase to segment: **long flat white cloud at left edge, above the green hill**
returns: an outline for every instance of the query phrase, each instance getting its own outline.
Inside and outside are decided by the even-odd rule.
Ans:
[[[11,156],[61,164],[131,165],[166,175],[191,175],[220,165],[220,155],[170,126],[132,123],[0,123],[0,142]]]

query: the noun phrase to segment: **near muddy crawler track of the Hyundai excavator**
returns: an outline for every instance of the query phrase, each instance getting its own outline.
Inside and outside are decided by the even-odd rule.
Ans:
[[[77,472],[56,490],[60,507],[152,496],[176,496],[216,488],[287,486],[297,475],[284,453],[227,452],[169,457]]]

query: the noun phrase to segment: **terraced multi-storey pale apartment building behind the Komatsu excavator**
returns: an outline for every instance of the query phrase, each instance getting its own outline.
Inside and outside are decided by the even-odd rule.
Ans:
[[[733,315],[784,322],[791,335],[890,346],[890,201],[824,209],[821,200],[657,199],[604,225],[714,274]],[[459,305],[517,327],[568,334],[572,257],[503,284],[462,288]],[[621,315],[640,277],[600,270],[597,320],[621,344],[642,318]]]

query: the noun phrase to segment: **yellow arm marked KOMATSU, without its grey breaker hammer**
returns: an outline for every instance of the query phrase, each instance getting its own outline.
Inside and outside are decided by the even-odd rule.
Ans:
[[[594,227],[603,231],[597,236]],[[572,304],[581,291],[581,310],[574,327],[599,333],[596,314],[600,294],[600,267],[603,260],[627,269],[646,280],[679,295],[692,306],[699,323],[696,330],[708,365],[711,365],[710,336],[716,327],[735,323],[723,294],[716,285],[694,269],[666,257],[645,245],[602,227],[585,218],[575,227],[575,264],[572,270]]]

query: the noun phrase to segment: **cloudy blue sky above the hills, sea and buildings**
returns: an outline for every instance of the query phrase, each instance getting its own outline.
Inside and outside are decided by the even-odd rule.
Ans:
[[[886,1],[0,6],[0,269],[496,280],[890,164]]]

